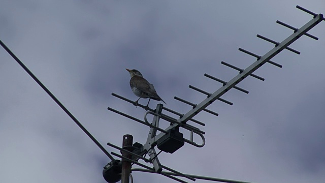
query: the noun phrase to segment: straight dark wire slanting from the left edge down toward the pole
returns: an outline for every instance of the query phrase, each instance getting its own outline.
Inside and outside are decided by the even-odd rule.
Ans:
[[[102,151],[111,159],[113,163],[115,163],[115,159],[108,153],[108,151],[87,131],[85,127],[81,125],[78,119],[72,115],[72,113],[64,107],[64,105],[50,92],[49,89],[20,61],[20,59],[0,40],[0,45],[4,47],[4,49],[16,60],[16,62],[32,77],[44,90],[45,92],[61,107],[61,109],[66,112],[73,121],[81,128],[83,132],[85,132],[88,137],[100,148]]]

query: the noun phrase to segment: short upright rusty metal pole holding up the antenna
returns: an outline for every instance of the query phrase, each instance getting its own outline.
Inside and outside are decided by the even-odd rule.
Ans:
[[[133,136],[132,135],[123,135],[123,144],[122,147],[126,150],[132,151],[132,149],[129,149],[129,147],[132,146],[133,143]],[[122,156],[128,159],[132,159],[132,155],[128,154],[125,151],[122,151]],[[128,183],[129,182],[129,176],[131,172],[131,162],[125,160],[122,158],[122,179],[121,183]]]

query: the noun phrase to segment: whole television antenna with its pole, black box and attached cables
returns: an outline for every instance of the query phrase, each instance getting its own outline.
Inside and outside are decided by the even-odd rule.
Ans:
[[[189,125],[188,122],[191,121],[192,123],[195,123],[197,125],[205,126],[204,123],[201,121],[198,121],[196,119],[193,119],[194,116],[196,116],[201,111],[206,111],[208,113],[211,113],[213,115],[218,115],[218,113],[213,112],[211,110],[206,109],[207,106],[212,104],[214,101],[219,100],[221,102],[227,103],[232,105],[232,102],[229,102],[225,99],[220,98],[223,94],[228,92],[230,89],[235,88],[239,90],[240,92],[244,92],[248,94],[248,91],[238,87],[237,84],[241,82],[243,79],[245,79],[248,76],[252,76],[256,79],[264,81],[264,78],[254,75],[253,72],[256,71],[259,67],[262,67],[264,64],[269,63],[274,66],[277,66],[281,68],[282,66],[280,64],[277,64],[273,61],[271,61],[271,58],[273,58],[275,55],[280,53],[282,50],[286,49],[289,51],[292,51],[294,53],[300,54],[299,51],[288,47],[291,43],[298,40],[301,36],[305,35],[312,39],[318,40],[317,37],[308,34],[307,32],[313,28],[315,25],[317,25],[319,22],[325,20],[322,14],[316,14],[313,13],[305,8],[302,8],[300,6],[296,6],[298,9],[310,14],[313,16],[313,18],[307,22],[305,25],[303,25],[301,28],[296,28],[293,26],[290,26],[286,23],[283,23],[281,21],[277,21],[277,23],[290,28],[294,31],[293,34],[291,34],[289,37],[287,37],[282,42],[276,42],[274,40],[271,40],[269,38],[266,38],[261,35],[257,35],[258,38],[261,38],[265,41],[268,41],[275,45],[273,49],[271,49],[269,52],[267,52],[265,55],[260,56],[255,53],[249,52],[245,49],[239,48],[240,51],[247,53],[253,57],[256,57],[256,61],[248,66],[246,69],[241,69],[236,66],[233,66],[231,64],[221,62],[221,64],[228,66],[232,69],[235,69],[239,71],[239,74],[236,75],[233,79],[226,82],[221,79],[218,79],[214,76],[204,74],[204,76],[213,79],[215,81],[218,81],[222,83],[222,86],[217,89],[214,93],[208,93],[205,90],[202,90],[200,88],[194,87],[189,85],[190,88],[197,90],[198,92],[205,94],[207,98],[203,100],[199,104],[193,104],[189,101],[183,100],[181,98],[175,97],[176,100],[181,101],[183,103],[186,103],[188,105],[191,105],[193,108],[189,110],[185,114],[181,114],[177,111],[174,111],[172,109],[164,107],[162,104],[158,104],[155,109],[148,108],[148,111],[144,114],[144,121],[137,119],[133,116],[130,116],[128,114],[122,113],[118,110],[115,110],[113,108],[108,108],[108,110],[113,111],[115,113],[118,113],[122,116],[125,116],[127,118],[133,119],[145,126],[148,126],[150,128],[149,134],[147,137],[147,141],[145,144],[140,144],[138,142],[133,144],[133,137],[131,135],[124,135],[123,136],[123,144],[122,147],[116,146],[111,143],[107,143],[109,146],[116,148],[121,151],[122,155],[116,154],[116,153],[108,153],[108,151],[82,126],[82,124],[78,121],[78,119],[66,108],[62,103],[50,92],[49,89],[21,62],[21,60],[0,40],[0,45],[16,60],[16,62],[45,90],[45,92],[61,107],[61,109],[66,112],[72,120],[83,130],[86,135],[96,144],[99,146],[99,148],[109,157],[111,160],[110,163],[108,163],[103,170],[103,176],[105,180],[108,182],[117,182],[119,180],[122,180],[122,183],[129,182],[129,176],[132,171],[142,171],[142,172],[150,172],[150,173],[158,173],[164,176],[167,176],[169,178],[172,178],[179,182],[186,182],[180,178],[177,178],[176,176],[184,177],[189,180],[195,181],[196,179],[204,179],[204,180],[212,180],[212,181],[218,181],[218,182],[233,182],[233,183],[244,183],[243,181],[237,181],[237,180],[229,180],[229,179],[221,179],[221,178],[213,178],[213,177],[205,177],[205,176],[199,176],[199,175],[189,175],[189,174],[183,174],[177,170],[174,170],[172,168],[169,168],[167,166],[162,165],[159,162],[158,155],[161,151],[165,151],[167,153],[174,153],[177,149],[182,147],[184,143],[191,144],[196,147],[203,147],[205,145],[205,132],[200,130],[200,128]],[[122,99],[126,102],[135,104],[135,102],[126,99],[122,96],[112,94],[114,97],[117,97],[119,99]],[[145,108],[145,106],[138,104],[139,107]],[[167,111],[170,113],[173,113],[175,115],[178,115],[179,118],[171,117],[165,113]],[[148,115],[153,115],[152,123],[150,123],[147,119]],[[171,125],[166,129],[159,128],[160,119],[163,119],[165,121],[168,121]],[[183,134],[179,132],[179,128],[183,128],[184,130],[187,130],[190,132],[190,139],[183,138]],[[157,134],[157,131],[159,133]],[[194,134],[197,134],[201,138],[201,142],[198,143],[197,141],[194,141]],[[155,147],[157,147],[160,152],[156,153]],[[145,155],[148,154],[149,158],[145,158]],[[118,158],[121,158],[120,160],[114,159],[113,156],[116,156]],[[143,163],[139,163],[139,160],[143,160],[145,163],[152,164],[153,167],[149,167],[148,165],[145,165]],[[145,169],[140,168],[132,168],[132,163],[139,165]],[[167,171],[163,171],[163,169]]]

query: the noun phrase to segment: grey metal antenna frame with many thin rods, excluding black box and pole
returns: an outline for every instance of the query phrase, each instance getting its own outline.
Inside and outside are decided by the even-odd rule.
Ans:
[[[182,176],[182,177],[188,178],[188,179],[193,180],[193,181],[195,180],[195,178],[198,178],[198,179],[221,181],[221,182],[233,182],[233,183],[242,182],[243,183],[243,181],[212,178],[212,177],[204,177],[204,176],[198,176],[198,175],[188,175],[188,174],[180,173],[180,172],[178,172],[176,170],[173,170],[173,169],[171,169],[169,167],[161,165],[159,160],[158,160],[159,153],[158,154],[156,153],[154,147],[155,147],[155,145],[157,145],[157,142],[161,138],[163,138],[166,134],[169,133],[170,130],[177,129],[177,128],[184,128],[184,129],[190,131],[190,140],[184,139],[185,142],[187,142],[187,143],[189,143],[191,145],[197,146],[197,147],[203,147],[205,145],[205,138],[204,138],[205,132],[201,131],[197,127],[194,127],[194,126],[191,126],[191,125],[187,124],[188,121],[192,121],[192,122],[194,122],[194,123],[196,123],[198,125],[205,126],[204,123],[193,119],[193,117],[196,116],[202,110],[204,110],[204,111],[206,111],[208,113],[211,113],[213,115],[218,116],[219,115],[218,113],[206,109],[206,107],[208,107],[210,104],[212,104],[215,100],[219,100],[219,101],[224,102],[226,104],[233,105],[232,102],[229,102],[229,101],[227,101],[225,99],[220,98],[223,94],[225,94],[226,92],[228,92],[232,88],[235,88],[235,89],[239,90],[240,92],[248,94],[249,93],[248,90],[245,90],[245,89],[243,89],[241,87],[238,87],[236,85],[238,83],[240,83],[243,79],[245,79],[248,76],[252,76],[252,77],[254,77],[256,79],[264,81],[265,78],[263,78],[261,76],[257,76],[255,74],[253,74],[253,72],[256,71],[259,67],[263,66],[265,63],[269,63],[269,64],[272,64],[272,65],[274,65],[276,67],[282,68],[282,65],[271,61],[271,58],[276,56],[278,53],[280,53],[284,49],[287,49],[287,50],[289,50],[291,52],[294,52],[296,54],[300,54],[299,51],[297,51],[297,50],[295,50],[293,48],[290,48],[288,46],[291,43],[298,40],[301,36],[305,35],[305,36],[308,36],[308,37],[310,37],[312,39],[318,40],[317,37],[315,37],[313,35],[310,35],[307,32],[311,28],[313,28],[315,25],[317,25],[319,22],[321,22],[322,20],[325,20],[323,15],[313,13],[313,12],[311,12],[309,10],[306,10],[306,9],[300,7],[300,6],[296,6],[296,8],[313,15],[313,19],[310,20],[309,22],[307,22],[305,25],[303,25],[299,29],[296,28],[296,27],[290,26],[288,24],[285,24],[285,23],[283,23],[281,21],[276,21],[277,23],[294,30],[293,34],[291,34],[289,37],[287,37],[285,40],[283,40],[280,43],[276,42],[274,40],[271,40],[269,38],[266,38],[264,36],[256,35],[258,38],[261,38],[261,39],[263,39],[265,41],[268,41],[270,43],[275,44],[275,47],[273,49],[271,49],[269,52],[267,52],[266,54],[264,54],[263,56],[257,55],[255,53],[247,51],[247,50],[245,50],[243,48],[239,48],[239,51],[242,51],[242,52],[244,52],[246,54],[249,54],[249,55],[251,55],[253,57],[256,57],[256,61],[253,64],[251,64],[250,66],[248,66],[246,69],[241,69],[241,68],[238,68],[236,66],[233,66],[233,65],[231,65],[229,63],[226,63],[226,62],[222,61],[221,62],[222,65],[225,65],[227,67],[230,67],[232,69],[235,69],[235,70],[239,71],[239,74],[237,76],[235,76],[233,79],[231,79],[229,82],[226,82],[226,81],[223,81],[221,79],[215,78],[215,77],[213,77],[211,75],[208,75],[208,74],[204,74],[204,76],[222,83],[222,86],[219,89],[217,89],[214,93],[211,94],[211,93],[206,92],[203,89],[200,89],[200,88],[194,87],[192,85],[189,85],[189,88],[194,89],[197,92],[200,92],[200,93],[205,94],[207,96],[207,98],[205,100],[203,100],[201,103],[193,104],[193,103],[191,103],[189,101],[186,101],[184,99],[181,99],[181,98],[175,96],[174,99],[192,106],[192,109],[189,110],[186,114],[181,114],[181,113],[178,113],[178,112],[176,112],[176,111],[174,111],[172,109],[166,108],[166,107],[163,106],[163,104],[157,104],[157,107],[156,107],[155,110],[150,109],[150,108],[146,108],[145,106],[143,106],[141,104],[138,104],[139,107],[144,108],[144,109],[147,110],[145,112],[145,114],[144,114],[144,120],[145,121],[142,121],[142,120],[137,119],[137,118],[135,118],[133,116],[127,115],[127,114],[122,113],[122,112],[120,112],[118,110],[115,110],[115,109],[112,109],[112,108],[108,107],[108,110],[111,110],[111,111],[113,111],[115,113],[118,113],[120,115],[123,115],[125,117],[131,118],[131,119],[133,119],[133,120],[135,120],[135,121],[137,121],[137,122],[139,122],[139,123],[141,123],[143,125],[146,125],[146,126],[150,127],[150,130],[149,130],[149,134],[148,134],[146,143],[142,146],[142,148],[140,150],[140,153],[137,153],[137,154],[135,154],[135,153],[133,153],[131,151],[128,151],[126,149],[120,148],[118,146],[115,146],[115,145],[113,145],[111,143],[107,143],[107,144],[110,145],[111,147],[114,147],[114,148],[119,149],[119,150],[124,151],[124,152],[126,151],[127,153],[133,155],[133,158],[128,159],[128,161],[131,161],[134,164],[137,164],[139,166],[142,166],[142,167],[146,168],[146,169],[132,168],[132,171],[143,171],[143,172],[150,172],[150,173],[159,173],[161,175],[167,176],[167,177],[172,178],[172,179],[174,179],[176,181],[179,181],[179,182],[185,182],[185,181],[183,181],[181,179],[178,179],[176,177],[173,177],[173,176]],[[119,99],[122,99],[122,100],[124,100],[126,102],[129,102],[129,103],[132,103],[132,104],[135,105],[135,102],[133,102],[133,101],[131,101],[129,99],[126,99],[126,98],[121,97],[121,96],[119,96],[117,94],[114,94],[114,93],[112,93],[112,95],[114,97],[117,97]],[[168,112],[171,112],[173,114],[178,115],[179,119],[176,119],[174,117],[171,117],[169,115],[166,115],[166,114],[162,113],[163,110],[166,110]],[[147,120],[147,115],[148,114],[153,115],[153,120],[152,120],[151,124]],[[159,120],[160,119],[164,119],[164,120],[170,122],[171,125],[169,127],[167,127],[165,130],[159,128]],[[160,133],[156,135],[157,131],[160,131]],[[194,133],[198,134],[202,138],[202,144],[197,144],[196,142],[193,141],[193,134]],[[111,154],[114,155],[114,156],[117,156],[119,158],[122,158],[121,155],[118,155],[116,153],[111,153]],[[143,156],[145,154],[148,154],[150,159],[144,158]],[[125,157],[123,157],[123,158],[125,159]],[[149,163],[153,164],[153,168],[139,163],[138,162],[139,159],[144,160],[145,162],[149,162]],[[169,170],[169,172],[162,171],[163,169]]]

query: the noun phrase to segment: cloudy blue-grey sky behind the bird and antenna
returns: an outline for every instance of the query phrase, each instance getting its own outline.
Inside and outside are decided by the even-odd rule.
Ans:
[[[167,107],[186,113],[238,74],[223,60],[246,68],[312,16],[300,5],[325,13],[314,1],[2,1],[0,39],[39,77],[108,151],[124,134],[145,143],[149,129],[107,110],[143,119],[144,110],[113,96],[136,100],[125,68],[138,69],[153,83]],[[160,162],[183,173],[251,182],[323,182],[325,179],[325,22],[200,113],[206,145],[185,144]],[[109,159],[13,58],[0,49],[0,181],[105,182]],[[141,104],[147,100],[141,99]],[[150,102],[154,108],[156,101]],[[163,124],[163,122],[161,122]],[[201,128],[201,127],[200,127]],[[188,134],[184,134],[188,137]],[[161,175],[134,172],[135,182],[171,182]],[[205,182],[197,180],[196,182]]]

